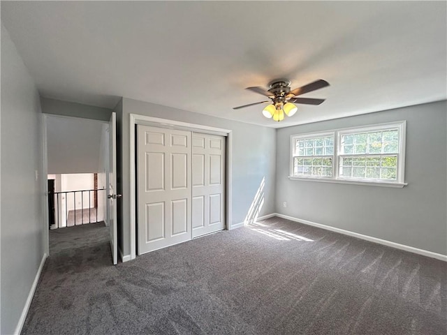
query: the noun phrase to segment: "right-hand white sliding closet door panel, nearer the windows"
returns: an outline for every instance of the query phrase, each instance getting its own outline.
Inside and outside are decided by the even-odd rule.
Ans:
[[[193,237],[225,228],[225,137],[193,133]]]

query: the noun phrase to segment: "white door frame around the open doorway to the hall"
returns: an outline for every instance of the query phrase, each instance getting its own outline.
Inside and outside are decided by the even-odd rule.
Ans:
[[[102,124],[108,124],[108,121],[98,120],[98,119],[88,119],[86,117],[71,117],[68,115],[59,115],[59,114],[48,114],[48,113],[42,113],[43,119],[42,119],[42,156],[43,156],[43,248],[44,253],[47,254],[47,256],[50,255],[50,229],[48,229],[48,220],[49,220],[49,212],[48,212],[48,183],[47,183],[47,176],[48,176],[48,140],[47,140],[47,119],[48,117],[60,117],[63,119],[73,119],[73,120],[89,120],[94,122],[99,122]],[[116,134],[115,134],[116,135]],[[114,223],[115,227],[117,226],[117,222]],[[117,246],[115,247],[117,248]]]

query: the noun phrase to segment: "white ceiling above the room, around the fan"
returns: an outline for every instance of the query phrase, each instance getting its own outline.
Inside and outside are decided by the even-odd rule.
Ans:
[[[42,96],[120,96],[279,128],[447,98],[446,1],[1,1]],[[286,77],[303,97],[280,123],[244,90]]]

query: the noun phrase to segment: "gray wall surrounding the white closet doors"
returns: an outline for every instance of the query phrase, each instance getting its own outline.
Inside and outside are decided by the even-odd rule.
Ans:
[[[130,152],[129,152],[129,114],[140,114],[163,119],[173,119],[177,121],[189,122],[192,124],[202,124],[226,128],[233,131],[233,217],[230,218],[232,224],[241,223],[247,216],[251,202],[253,202],[256,192],[265,178],[264,205],[260,211],[260,216],[274,212],[274,155],[275,155],[275,130],[263,126],[254,126],[235,122],[217,117],[210,117],[204,114],[177,110],[175,108],[145,103],[129,98],[123,98],[122,110],[118,107],[117,128],[119,129],[118,141],[121,138],[122,147],[117,170],[119,174],[118,190],[122,193],[122,209],[120,217],[122,221],[123,238],[120,244],[124,255],[130,254],[129,218],[130,218]],[[121,230],[120,230],[121,232]]]

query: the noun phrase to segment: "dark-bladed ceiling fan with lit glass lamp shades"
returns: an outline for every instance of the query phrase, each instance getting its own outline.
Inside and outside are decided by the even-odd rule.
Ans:
[[[298,96],[300,96],[301,94],[316,91],[317,89],[322,89],[323,87],[327,87],[329,86],[329,83],[325,80],[319,79],[291,91],[290,80],[276,79],[269,82],[268,86],[268,90],[265,90],[263,87],[247,87],[247,89],[258,94],[262,94],[263,96],[268,96],[270,100],[233,107],[233,110],[258,105],[261,103],[271,103],[271,105],[268,105],[264,108],[263,115],[268,119],[273,118],[274,121],[279,122],[284,120],[284,114],[286,114],[288,117],[291,117],[293,114],[296,113],[298,107],[293,105],[293,103],[302,103],[305,105],[320,105],[321,103],[323,103],[325,99],[298,98]]]

